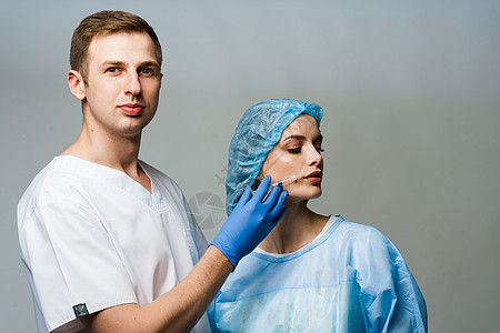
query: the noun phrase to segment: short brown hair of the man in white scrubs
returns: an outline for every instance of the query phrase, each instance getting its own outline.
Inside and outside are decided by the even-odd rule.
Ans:
[[[100,11],[84,18],[74,29],[71,38],[70,65],[79,71],[87,84],[88,80],[88,50],[92,39],[98,34],[118,32],[146,32],[154,43],[154,54],[161,65],[162,53],[158,37],[151,26],[142,18],[124,11]]]

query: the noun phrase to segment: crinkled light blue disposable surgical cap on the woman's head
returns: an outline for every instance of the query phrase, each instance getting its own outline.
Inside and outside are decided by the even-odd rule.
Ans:
[[[300,114],[312,115],[320,125],[323,110],[318,104],[280,99],[260,101],[240,119],[228,153],[226,211],[231,214],[247,186],[252,186],[269,151],[284,129]]]

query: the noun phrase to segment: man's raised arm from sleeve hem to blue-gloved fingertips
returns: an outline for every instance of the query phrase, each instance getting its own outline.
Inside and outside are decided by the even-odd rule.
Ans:
[[[80,321],[98,333],[190,331],[239,260],[253,251],[284,214],[288,193],[276,186],[267,195],[270,182],[266,176],[253,196],[249,189],[244,191],[204,255],[170,291],[146,306],[117,305]]]

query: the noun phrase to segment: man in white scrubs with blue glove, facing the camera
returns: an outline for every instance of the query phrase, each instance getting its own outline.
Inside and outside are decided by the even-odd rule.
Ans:
[[[207,249],[179,186],[138,159],[161,61],[153,29],[127,12],[98,12],[73,33],[82,130],[18,205],[39,332],[206,332],[223,281],[284,213],[281,189],[264,200],[267,178]]]

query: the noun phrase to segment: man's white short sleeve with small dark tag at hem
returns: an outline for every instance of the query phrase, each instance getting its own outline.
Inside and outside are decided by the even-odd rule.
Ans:
[[[137,303],[100,218],[77,194],[60,194],[41,195],[20,229],[21,255],[49,331],[86,313]]]

